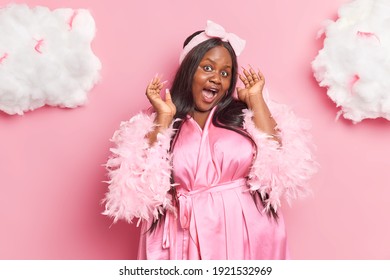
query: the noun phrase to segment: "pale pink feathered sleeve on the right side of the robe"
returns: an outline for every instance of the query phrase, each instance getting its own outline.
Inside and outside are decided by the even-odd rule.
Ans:
[[[277,122],[282,143],[258,130],[252,120],[253,113],[244,110],[244,128],[257,145],[248,182],[250,189],[258,191],[265,200],[265,211],[270,206],[276,211],[282,198],[290,203],[310,193],[308,181],[317,172],[318,163],[313,158],[310,124],[297,118],[285,105],[271,101],[267,104]]]

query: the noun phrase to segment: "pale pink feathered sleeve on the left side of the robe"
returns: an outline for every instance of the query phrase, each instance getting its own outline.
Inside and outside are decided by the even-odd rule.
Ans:
[[[158,217],[163,208],[172,207],[167,194],[170,189],[171,155],[168,152],[172,127],[157,135],[157,142],[149,145],[147,133],[154,127],[155,114],[139,113],[122,122],[111,141],[115,147],[106,163],[109,184],[105,195],[104,215],[124,219],[148,220]],[[138,222],[139,222],[138,221]]]

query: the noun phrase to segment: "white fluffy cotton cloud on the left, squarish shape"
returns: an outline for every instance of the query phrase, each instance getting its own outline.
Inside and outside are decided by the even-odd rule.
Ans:
[[[85,9],[0,9],[0,110],[23,114],[45,104],[84,105],[99,79],[91,50],[95,22]]]

